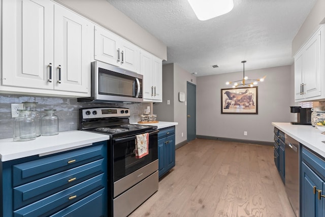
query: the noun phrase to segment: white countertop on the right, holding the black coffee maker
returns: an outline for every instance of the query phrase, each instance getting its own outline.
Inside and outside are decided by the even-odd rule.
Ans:
[[[325,135],[311,125],[291,125],[291,123],[272,122],[272,125],[304,146],[325,158]]]

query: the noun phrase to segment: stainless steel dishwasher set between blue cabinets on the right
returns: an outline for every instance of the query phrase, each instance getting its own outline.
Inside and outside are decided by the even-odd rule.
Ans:
[[[299,217],[299,156],[300,144],[285,134],[284,164],[285,164],[285,192],[296,216]]]

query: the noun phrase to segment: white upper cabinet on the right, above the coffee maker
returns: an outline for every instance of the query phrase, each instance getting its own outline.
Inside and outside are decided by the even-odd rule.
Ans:
[[[325,99],[325,26],[295,55],[295,101]]]

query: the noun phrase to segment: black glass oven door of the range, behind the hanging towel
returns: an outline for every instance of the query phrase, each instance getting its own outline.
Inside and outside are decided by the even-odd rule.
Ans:
[[[149,153],[136,158],[136,136],[113,139],[113,180],[121,178],[149,165],[158,159],[158,130],[149,133]]]

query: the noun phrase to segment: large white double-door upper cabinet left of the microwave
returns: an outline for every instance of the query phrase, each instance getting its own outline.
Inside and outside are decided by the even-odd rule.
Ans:
[[[92,24],[49,0],[3,0],[4,92],[90,96]]]

